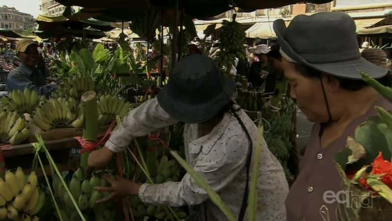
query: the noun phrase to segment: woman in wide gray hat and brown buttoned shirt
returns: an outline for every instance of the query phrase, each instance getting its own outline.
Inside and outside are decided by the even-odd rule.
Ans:
[[[343,12],[322,12],[296,16],[286,28],[274,22],[279,38],[290,96],[308,120],[315,122],[300,162],[300,171],[286,199],[288,221],[325,221],[320,208],[328,208],[336,221],[337,200],[325,200],[325,193],[341,190],[333,156],[354,137],[357,126],[377,115],[374,106],[392,110],[392,105],[369,87],[361,71],[383,84],[390,84],[388,70],[362,58],[356,27]]]

